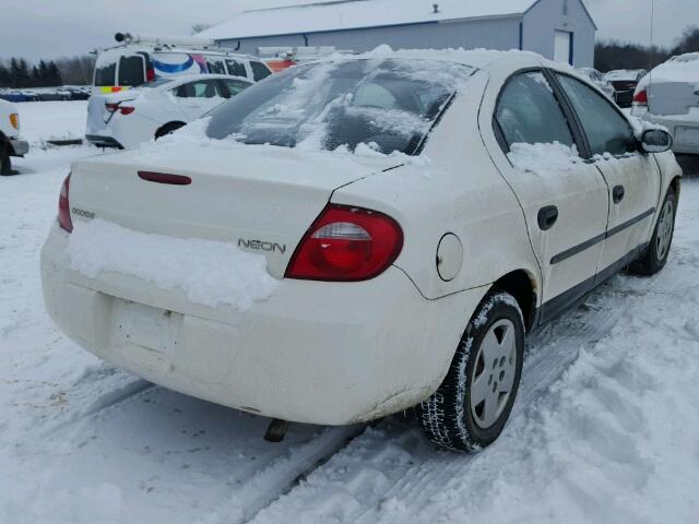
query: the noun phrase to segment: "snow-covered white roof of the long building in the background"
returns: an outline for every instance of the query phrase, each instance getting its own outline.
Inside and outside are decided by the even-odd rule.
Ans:
[[[245,11],[198,36],[223,40],[512,16],[523,15],[536,2],[537,0],[335,0]],[[437,10],[435,4],[438,5]]]

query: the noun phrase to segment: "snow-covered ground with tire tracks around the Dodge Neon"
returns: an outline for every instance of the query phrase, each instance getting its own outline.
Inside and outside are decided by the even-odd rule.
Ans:
[[[31,141],[81,134],[84,106],[48,104],[67,119],[24,109]],[[293,426],[270,444],[266,420],[150,385],[63,337],[38,253],[70,163],[97,153],[35,147],[0,179],[1,523],[697,522],[699,178],[685,180],[665,271],[615,277],[531,341],[511,422],[462,456],[398,417]]]

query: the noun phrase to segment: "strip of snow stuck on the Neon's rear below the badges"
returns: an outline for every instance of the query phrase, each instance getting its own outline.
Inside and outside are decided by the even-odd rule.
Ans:
[[[264,257],[230,243],[150,235],[102,219],[74,226],[68,245],[71,267],[90,278],[120,273],[161,289],[179,288],[192,302],[240,311],[269,298],[276,286]]]

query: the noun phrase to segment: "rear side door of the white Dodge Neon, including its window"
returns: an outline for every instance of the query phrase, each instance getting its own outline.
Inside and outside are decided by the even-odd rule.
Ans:
[[[578,130],[542,71],[508,81],[494,120],[507,156],[493,157],[524,211],[543,276],[541,319],[548,321],[594,284],[607,223],[606,184],[595,166],[574,154]],[[566,148],[569,165],[548,162],[546,152]],[[517,160],[521,150],[534,157],[541,153],[538,162],[523,167]]]

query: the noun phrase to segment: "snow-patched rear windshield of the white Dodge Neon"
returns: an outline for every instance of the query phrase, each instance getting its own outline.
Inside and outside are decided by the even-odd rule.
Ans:
[[[473,74],[466,66],[402,59],[339,60],[287,70],[216,109],[212,139],[309,150],[413,155],[451,96]]]

